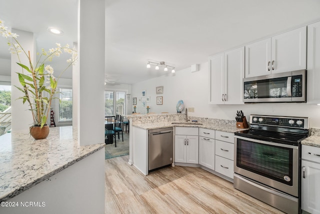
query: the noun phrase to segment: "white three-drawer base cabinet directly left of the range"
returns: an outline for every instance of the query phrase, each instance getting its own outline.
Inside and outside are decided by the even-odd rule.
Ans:
[[[215,131],[214,170],[233,179],[234,134]]]

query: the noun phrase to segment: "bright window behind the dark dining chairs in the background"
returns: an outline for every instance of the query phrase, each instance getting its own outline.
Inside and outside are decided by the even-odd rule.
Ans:
[[[104,115],[125,114],[125,92],[105,91]]]

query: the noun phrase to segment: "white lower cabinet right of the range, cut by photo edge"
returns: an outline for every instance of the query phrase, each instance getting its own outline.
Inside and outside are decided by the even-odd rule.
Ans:
[[[320,148],[302,145],[301,208],[320,214]]]

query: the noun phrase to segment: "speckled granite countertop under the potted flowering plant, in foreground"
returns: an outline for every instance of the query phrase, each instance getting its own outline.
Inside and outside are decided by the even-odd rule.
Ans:
[[[0,201],[14,197],[104,145],[79,146],[72,126],[52,127],[42,140],[34,140],[25,132],[0,136]]]

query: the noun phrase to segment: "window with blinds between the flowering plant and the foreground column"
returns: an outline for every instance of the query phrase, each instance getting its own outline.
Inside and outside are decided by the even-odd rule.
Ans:
[[[72,121],[72,89],[59,89],[59,122]]]

